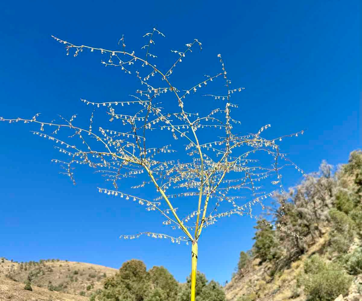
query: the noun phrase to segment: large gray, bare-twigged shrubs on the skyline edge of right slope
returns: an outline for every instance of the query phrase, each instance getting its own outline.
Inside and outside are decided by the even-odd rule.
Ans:
[[[292,232],[306,237],[299,239],[285,231],[274,232],[275,245],[279,253],[279,256],[273,259],[276,270],[290,267],[293,261],[306,253],[308,247],[323,236],[336,185],[332,166],[323,162],[317,173],[308,175],[299,185],[290,189],[286,195],[285,214],[279,203],[284,196],[275,195],[278,200],[273,215],[275,223],[282,223]]]

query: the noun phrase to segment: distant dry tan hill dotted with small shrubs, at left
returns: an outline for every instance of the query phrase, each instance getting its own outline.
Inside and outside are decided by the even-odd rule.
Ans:
[[[1,279],[9,279],[11,282],[7,281],[8,285],[20,283],[22,291],[24,290],[24,283],[30,280],[34,292],[45,290],[49,293],[62,292],[78,296],[80,294],[90,296],[97,289],[103,287],[102,280],[105,277],[113,276],[116,272],[117,270],[114,268],[97,264],[59,259],[25,263],[11,262],[4,258],[0,260]],[[35,287],[41,288],[41,290],[35,290]],[[59,300],[67,300],[66,297],[63,298]]]

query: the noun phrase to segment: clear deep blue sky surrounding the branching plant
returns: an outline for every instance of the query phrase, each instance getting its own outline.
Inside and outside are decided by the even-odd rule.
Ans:
[[[194,38],[194,51],[177,69],[186,89],[204,74],[219,72],[221,53],[229,78],[245,87],[239,103],[244,131],[271,124],[275,136],[307,129],[283,144],[306,172],[325,159],[344,163],[361,147],[360,5],[358,1],[17,1],[0,13],[0,116],[44,120],[84,114],[80,98],[116,100],[134,93],[137,82],[120,69],[105,68],[100,54],[66,56],[56,35],[75,44],[142,53],[142,35],[153,26],[163,53],[157,65],[174,60]],[[189,59],[189,62],[187,60]],[[206,100],[205,100],[206,101]],[[207,100],[209,101],[209,100]],[[195,102],[194,109],[202,108]],[[238,114],[238,113],[235,113]],[[81,119],[82,120],[82,119]],[[87,126],[88,123],[85,123]],[[97,193],[101,179],[85,173],[73,186],[50,163],[54,150],[26,125],[0,123],[0,256],[17,261],[60,258],[118,268],[129,259],[163,265],[179,281],[190,272],[188,246],[147,238],[121,241],[124,232],[160,230],[162,219],[132,204]],[[38,128],[36,128],[38,130]],[[300,181],[287,173],[286,187]],[[154,191],[142,192],[154,194]],[[198,268],[209,279],[230,280],[241,250],[252,246],[254,221],[230,218],[207,229],[199,242]],[[223,259],[220,254],[226,254]]]

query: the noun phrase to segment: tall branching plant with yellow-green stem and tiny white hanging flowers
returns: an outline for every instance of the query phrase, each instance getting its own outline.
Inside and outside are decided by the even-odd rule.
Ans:
[[[212,76],[206,75],[191,88],[181,90],[172,82],[171,75],[194,47],[201,48],[201,43],[195,39],[192,43],[186,44],[183,52],[172,50],[177,58],[171,68],[161,69],[152,62],[157,59],[157,56],[150,53],[151,46],[155,43],[153,41],[155,35],[164,36],[155,28],[151,33],[144,35],[147,44],[142,47],[143,51],[146,51],[143,55],[138,55],[135,51],[126,51],[123,36],[118,43],[120,50],[76,46],[53,37],[66,47],[67,55],[78,56],[84,51],[98,52],[107,57],[106,60],[102,60],[102,64],[119,67],[123,72],[135,75],[139,84],[143,86],[143,89],[136,90],[134,96],[129,96],[128,100],[95,102],[81,99],[85,105],[94,107],[89,127],[76,125],[77,115],[72,115],[69,120],[60,116],[59,122],[38,120],[39,114],[31,119],[0,117],[0,120],[9,123],[38,124],[40,130],[33,133],[52,140],[55,148],[66,155],[65,158],[52,161],[62,166],[64,174],[68,175],[73,183],[75,183],[74,166],[88,165],[113,184],[112,189],[99,187],[99,192],[137,201],[148,211],[159,212],[164,217],[164,225],[179,229],[182,236],[178,237],[141,232],[122,235],[121,238],[132,239],[145,234],[153,238],[171,239],[175,243],[188,244],[190,242],[192,245],[191,300],[194,301],[197,242],[202,230],[222,217],[235,214],[248,215],[260,220],[252,214],[252,206],[259,204],[264,208],[263,201],[272,196],[275,191],[262,191],[260,183],[263,180],[278,186],[277,192],[282,195],[280,202],[283,209],[286,197],[281,182],[281,169],[285,165],[292,165],[302,174],[304,173],[286,157],[286,154],[279,151],[278,143],[283,137],[298,136],[298,134],[303,134],[303,131],[266,139],[262,136],[262,133],[270,127],[270,124],[266,124],[256,133],[240,135],[233,128],[241,122],[231,115],[231,111],[238,107],[236,103],[231,102],[231,99],[244,88],[231,85],[222,56],[217,55],[220,72]],[[206,98],[208,105],[216,103],[219,107],[212,108],[206,113],[193,110],[195,106],[191,104],[190,98],[216,79],[223,82],[221,93],[204,96],[209,97]],[[167,97],[167,101],[161,103],[157,97],[160,99]],[[176,105],[171,106],[171,102]],[[206,105],[200,107],[205,108]],[[93,131],[93,114],[97,108],[104,109],[108,114],[109,122],[114,125],[112,130],[105,126],[99,127],[98,131]],[[197,106],[196,109],[198,109]],[[45,129],[49,129],[50,132],[47,133]],[[59,137],[58,132],[62,129],[71,131],[68,139]],[[155,137],[162,138],[155,139]],[[77,142],[74,142],[75,138]],[[184,154],[176,152],[177,149],[172,147],[174,140],[183,141],[184,144],[175,141],[174,145],[178,151],[184,150]],[[161,145],[156,145],[156,143],[161,143]],[[258,154],[261,153],[271,158],[269,164],[264,165],[258,160]],[[282,165],[282,161],[288,162]],[[129,177],[139,179],[139,183],[131,187],[136,188],[131,194],[118,187],[119,181]],[[159,197],[144,199],[137,196],[139,190],[146,186],[155,187]],[[245,199],[244,191],[248,192],[249,198]],[[178,202],[180,206],[194,204],[194,211],[186,217],[181,217],[178,213],[181,208],[174,207],[175,198],[182,198],[182,201]],[[192,203],[193,200],[194,203]],[[223,201],[230,203],[231,207],[227,211],[218,213],[217,209]],[[190,219],[194,222],[187,223]],[[303,238],[290,232],[282,224],[273,225],[265,220],[263,222],[293,236]]]

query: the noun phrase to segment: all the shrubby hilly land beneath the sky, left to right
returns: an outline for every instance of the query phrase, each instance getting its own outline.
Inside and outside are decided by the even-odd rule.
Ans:
[[[361,301],[362,152],[352,152],[335,172],[324,162],[291,188],[285,215],[277,204],[269,220],[256,222],[253,248],[240,253],[230,283],[222,288],[198,272],[197,301]],[[27,281],[33,291],[24,289]],[[190,281],[178,283],[164,267],[147,271],[135,259],[116,270],[0,258],[0,301],[189,301]]]

